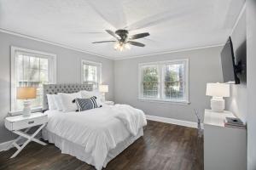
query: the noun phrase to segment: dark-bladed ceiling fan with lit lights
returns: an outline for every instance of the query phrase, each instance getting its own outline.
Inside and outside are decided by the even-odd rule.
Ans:
[[[143,47],[145,47],[145,44],[143,44],[141,42],[134,42],[134,41],[131,41],[131,40],[135,40],[135,39],[139,39],[139,38],[149,36],[148,32],[139,33],[139,34],[129,36],[129,31],[127,31],[127,30],[117,30],[115,32],[113,32],[111,30],[105,30],[105,31],[107,31],[108,34],[110,34],[111,36],[116,38],[116,40],[115,41],[113,41],[113,40],[111,40],[111,41],[102,41],[102,42],[115,42],[114,49],[119,50],[119,51],[123,51],[123,49],[130,49],[131,48],[130,44],[143,48]],[[102,42],[92,42],[92,43],[102,43]]]

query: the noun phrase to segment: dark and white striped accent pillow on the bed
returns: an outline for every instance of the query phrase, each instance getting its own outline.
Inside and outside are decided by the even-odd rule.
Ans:
[[[96,96],[93,96],[89,99],[74,99],[74,102],[78,105],[79,111],[86,111],[90,109],[95,109],[101,107],[102,105],[98,106],[96,103]]]

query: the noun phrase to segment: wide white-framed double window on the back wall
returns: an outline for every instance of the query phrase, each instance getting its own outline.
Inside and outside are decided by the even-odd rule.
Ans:
[[[139,65],[139,98],[189,102],[189,59]]]

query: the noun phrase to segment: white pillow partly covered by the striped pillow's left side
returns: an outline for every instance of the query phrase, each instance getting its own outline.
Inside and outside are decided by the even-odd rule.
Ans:
[[[77,98],[82,98],[81,93],[74,93],[74,94],[62,94],[59,93],[58,96],[60,97],[61,100],[61,107],[62,111],[67,112],[67,111],[77,111],[78,105],[74,102],[74,99]]]

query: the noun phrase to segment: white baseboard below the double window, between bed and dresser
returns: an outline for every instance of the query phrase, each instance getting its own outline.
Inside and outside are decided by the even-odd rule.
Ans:
[[[160,117],[160,116],[151,116],[151,115],[146,115],[146,117],[150,121],[166,122],[166,123],[171,123],[171,124],[175,124],[175,125],[180,125],[180,126],[183,126],[183,127],[197,128],[197,123],[196,122],[181,121],[181,120],[178,120],[178,119],[172,119],[172,118]]]

